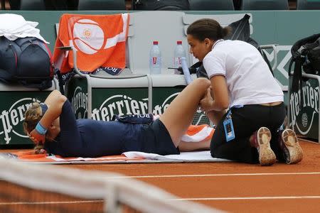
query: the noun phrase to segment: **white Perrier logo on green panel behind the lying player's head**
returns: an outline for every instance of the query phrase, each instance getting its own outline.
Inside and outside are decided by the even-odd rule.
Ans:
[[[1,111],[0,120],[2,124],[2,131],[0,132],[1,138],[4,138],[6,144],[11,141],[11,134],[21,138],[28,138],[21,128],[24,114],[29,109],[33,102],[39,102],[37,99],[27,97],[19,99],[9,107],[8,110]]]

